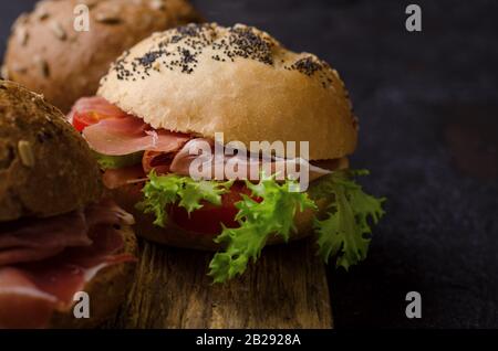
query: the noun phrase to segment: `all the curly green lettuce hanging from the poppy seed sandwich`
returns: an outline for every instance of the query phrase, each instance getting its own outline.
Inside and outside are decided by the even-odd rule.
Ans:
[[[261,176],[259,183],[246,181],[251,195],[242,194],[235,205],[239,227],[222,226],[215,238],[225,249],[218,252],[209,264],[209,275],[215,283],[222,283],[242,274],[250,260],[261,255],[271,235],[279,235],[287,242],[295,231],[294,217],[298,211],[307,209],[318,213],[317,202],[326,200],[325,217],[315,217],[318,254],[325,263],[334,259],[336,267],[346,270],[366,257],[371,238],[371,224],[384,215],[382,203],[363,192],[353,180],[354,176],[367,171],[335,171],[313,182],[308,193],[293,192],[295,182],[277,182],[274,177]],[[195,181],[189,177],[149,174],[143,189],[144,201],[137,208],[155,215],[154,224],[165,226],[168,205],[185,208],[188,213],[203,206],[204,202],[221,205],[221,195],[232,182]]]

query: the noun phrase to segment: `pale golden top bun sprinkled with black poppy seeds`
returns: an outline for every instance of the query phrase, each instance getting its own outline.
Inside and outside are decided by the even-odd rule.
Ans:
[[[225,141],[309,141],[311,160],[354,151],[356,119],[335,70],[269,34],[189,24],[123,54],[98,95],[154,128]],[[283,156],[283,155],[279,155]]]

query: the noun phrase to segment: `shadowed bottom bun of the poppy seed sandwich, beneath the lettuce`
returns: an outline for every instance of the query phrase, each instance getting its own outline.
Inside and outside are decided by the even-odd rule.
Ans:
[[[147,241],[183,248],[193,248],[199,251],[218,251],[222,248],[222,244],[217,244],[214,240],[218,234],[197,233],[193,231],[179,227],[175,223],[167,223],[165,227],[153,224],[154,216],[145,214],[142,211],[135,209],[135,204],[141,201],[137,198],[137,184],[121,187],[118,189],[110,190],[111,196],[116,203],[132,213],[135,217],[135,233]],[[133,195],[134,194],[134,195]],[[291,241],[304,238],[313,233],[313,219],[322,216],[326,209],[326,201],[320,201],[317,203],[319,212],[305,210],[295,214],[295,227],[297,231],[291,234]],[[273,235],[268,240],[268,245],[282,244],[284,240],[280,235]]]

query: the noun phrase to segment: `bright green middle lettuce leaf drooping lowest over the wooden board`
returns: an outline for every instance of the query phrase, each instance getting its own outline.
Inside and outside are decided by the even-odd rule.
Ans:
[[[289,191],[291,185],[295,185],[293,181],[279,184],[274,177],[262,176],[258,184],[246,184],[252,196],[243,195],[236,203],[239,210],[236,220],[240,227],[224,227],[215,240],[226,244],[226,251],[215,254],[209,264],[209,275],[215,283],[242,274],[249,259],[258,259],[270,235],[281,235],[288,241],[290,233],[294,231],[297,211],[317,209],[307,193]]]

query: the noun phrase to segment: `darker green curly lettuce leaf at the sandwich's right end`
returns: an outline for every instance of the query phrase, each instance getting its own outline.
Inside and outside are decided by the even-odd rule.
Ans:
[[[321,179],[310,190],[312,199],[328,198],[331,201],[329,216],[323,221],[315,220],[319,255],[328,263],[335,259],[336,267],[357,264],[366,258],[372,233],[370,221],[376,224],[384,215],[382,203],[385,199],[376,199],[363,192],[362,187],[351,178],[364,176],[367,171],[338,171]]]

